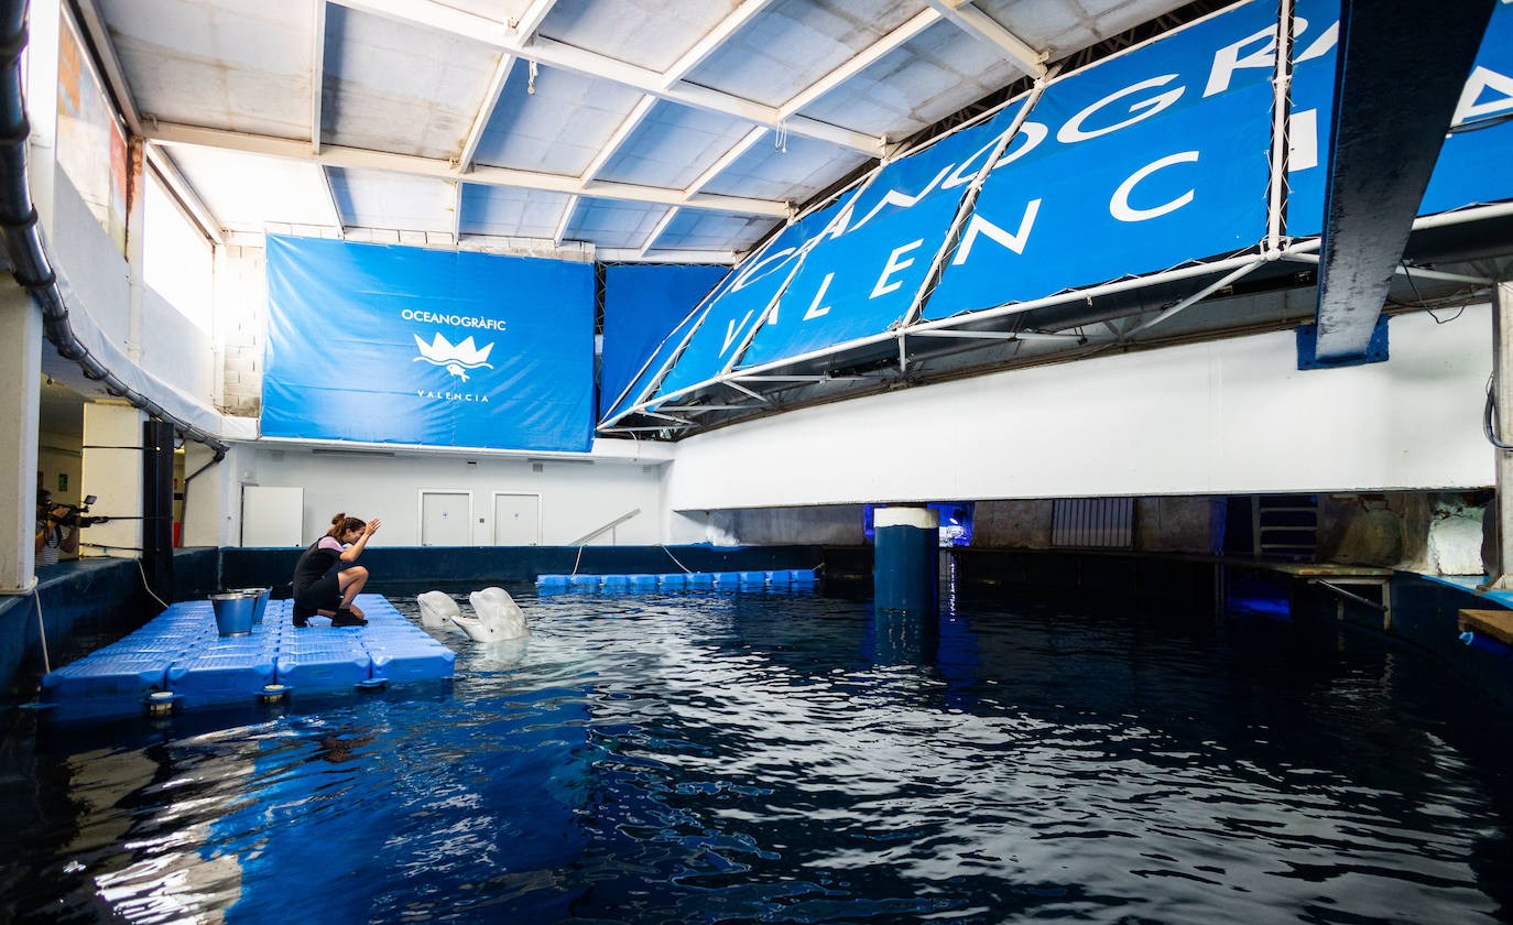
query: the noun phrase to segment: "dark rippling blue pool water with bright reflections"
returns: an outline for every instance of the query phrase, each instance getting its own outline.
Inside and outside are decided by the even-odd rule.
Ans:
[[[12,712],[0,922],[1513,920],[1508,715],[1369,637],[511,590],[451,684]]]

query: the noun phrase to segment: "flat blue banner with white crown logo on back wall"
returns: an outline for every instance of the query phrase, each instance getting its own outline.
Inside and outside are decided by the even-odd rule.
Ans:
[[[593,266],[268,238],[265,436],[587,451]]]

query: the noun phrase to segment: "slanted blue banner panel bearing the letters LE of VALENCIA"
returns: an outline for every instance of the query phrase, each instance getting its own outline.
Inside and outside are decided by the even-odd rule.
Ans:
[[[803,257],[740,365],[791,359],[903,321],[962,197],[1021,107],[884,167],[847,207],[841,235]]]

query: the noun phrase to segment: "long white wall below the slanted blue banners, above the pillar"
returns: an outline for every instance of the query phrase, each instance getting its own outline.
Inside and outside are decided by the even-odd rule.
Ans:
[[[868,501],[1469,487],[1490,307],[1390,322],[1390,360],[1298,371],[1292,332],[788,412],[690,438],[675,512]],[[681,528],[679,528],[681,522]],[[672,518],[673,540],[696,531]]]

